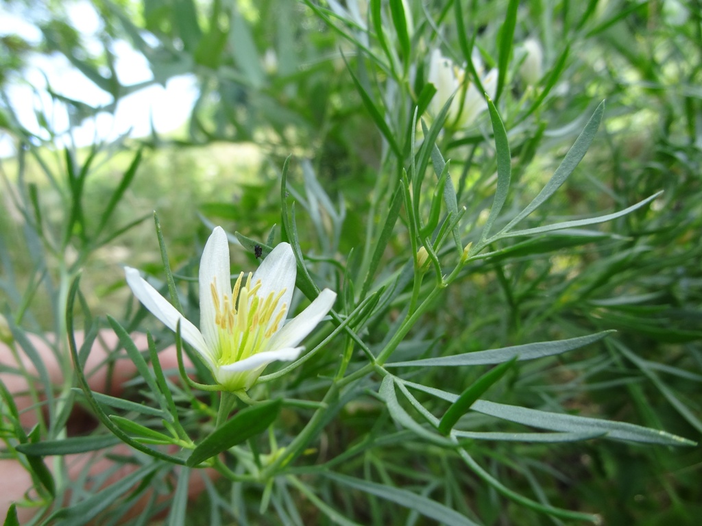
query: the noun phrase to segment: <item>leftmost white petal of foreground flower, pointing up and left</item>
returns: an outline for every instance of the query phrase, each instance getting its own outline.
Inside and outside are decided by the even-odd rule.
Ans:
[[[146,307],[150,313],[159,318],[173,332],[176,332],[178,320],[180,320],[180,335],[183,339],[192,345],[192,347],[203,356],[205,361],[212,366],[214,365],[211,352],[205,344],[200,331],[197,327],[183,318],[183,315],[178,312],[176,307],[166,301],[159,292],[147,283],[140,275],[137,269],[124,267],[124,274],[127,278],[127,284],[131,288],[137,299]]]

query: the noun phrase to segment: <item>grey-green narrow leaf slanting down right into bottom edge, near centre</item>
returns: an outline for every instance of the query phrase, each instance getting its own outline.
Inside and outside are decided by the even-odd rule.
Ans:
[[[391,487],[388,485],[373,483],[370,480],[361,478],[353,478],[340,473],[322,473],[326,478],[345,485],[347,487],[361,490],[362,492],[375,495],[380,499],[385,499],[395,502],[403,508],[407,508],[425,517],[432,518],[442,524],[450,524],[452,526],[478,526],[477,522],[473,522],[465,515],[461,515],[444,504],[439,504],[437,501],[432,501],[423,495],[414,492],[403,490],[399,487]]]

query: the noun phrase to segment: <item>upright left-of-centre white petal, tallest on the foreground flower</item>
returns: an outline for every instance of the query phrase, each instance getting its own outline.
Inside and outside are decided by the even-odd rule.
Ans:
[[[200,330],[208,349],[217,349],[218,337],[215,324],[215,305],[213,303],[211,284],[220,302],[232,295],[230,279],[229,241],[222,227],[215,227],[210,235],[200,259]]]

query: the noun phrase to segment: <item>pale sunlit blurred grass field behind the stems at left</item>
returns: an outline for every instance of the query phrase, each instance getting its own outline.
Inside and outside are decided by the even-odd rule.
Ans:
[[[55,152],[39,151],[44,159],[55,161]],[[79,151],[87,155],[87,149]],[[128,151],[109,154],[95,167],[88,177],[85,189],[85,213],[99,217],[105,203],[109,201],[115,184],[128,168],[133,154]],[[9,257],[16,271],[18,289],[25,290],[32,275],[32,255],[29,253],[21,231],[21,215],[15,209],[10,193],[17,192],[18,164],[14,159],[4,159],[2,169],[8,176],[3,189],[3,201],[7,213],[0,215],[0,236],[13,250]],[[51,166],[60,173],[61,161]],[[37,184],[42,213],[48,224],[57,224],[65,211],[62,200],[44,176],[36,160],[27,159],[24,170],[25,182]],[[208,229],[203,226],[199,208],[206,203],[218,201],[229,203],[232,208],[246,207],[242,201],[251,200],[252,192],[266,193],[275,175],[266,170],[260,150],[253,144],[209,144],[206,147],[171,146],[146,151],[138,168],[138,174],[116,213],[107,224],[108,231],[117,230],[141,215],[156,211],[164,225],[168,250],[174,266],[179,266],[193,257],[194,240],[204,239]],[[258,190],[257,190],[258,189]],[[256,202],[258,205],[258,202]],[[251,204],[248,205],[249,208]],[[249,210],[250,212],[250,210]],[[227,224],[227,222],[223,222]],[[231,226],[231,223],[229,223]],[[263,234],[252,225],[241,228],[249,234]],[[233,228],[232,228],[233,229]],[[126,231],[109,245],[95,250],[84,265],[81,283],[84,284],[88,304],[97,315],[120,311],[131,294],[124,287],[122,267],[133,267],[157,271],[161,268],[161,257],[154,231],[154,223],[147,219],[137,227]],[[70,259],[71,248],[67,259]],[[51,261],[48,261],[51,265]],[[56,264],[57,262],[53,262]],[[33,304],[39,319],[41,312],[51,309],[41,297]],[[44,327],[50,330],[50,327]]]

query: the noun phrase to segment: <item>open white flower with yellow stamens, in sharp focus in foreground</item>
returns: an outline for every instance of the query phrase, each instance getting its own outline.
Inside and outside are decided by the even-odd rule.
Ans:
[[[329,312],[336,292],[324,289],[285,323],[295,288],[296,262],[288,243],[280,243],[256,272],[241,272],[231,287],[229,244],[221,227],[207,240],[200,260],[200,330],[187,321],[136,269],[125,267],[129,287],[166,327],[180,333],[227,391],[249,389],[275,360],[295,360],[297,346]]]

